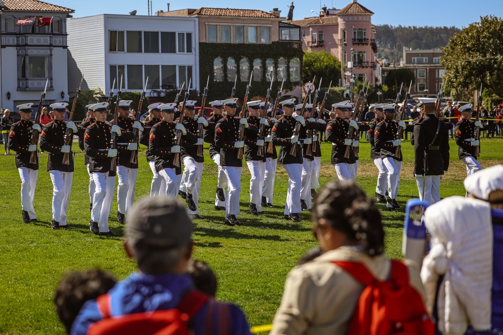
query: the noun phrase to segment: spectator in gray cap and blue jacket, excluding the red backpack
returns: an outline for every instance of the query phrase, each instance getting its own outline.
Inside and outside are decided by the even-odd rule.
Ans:
[[[132,209],[124,248],[137,261],[138,272],[109,291],[111,317],[177,308],[194,291],[191,277],[184,274],[194,247],[193,229],[184,206],[176,199],[148,197]],[[71,334],[86,334],[91,324],[103,319],[100,310],[97,300],[83,305]],[[196,335],[205,334],[209,327],[215,333],[224,329],[237,335],[250,333],[238,307],[210,297],[190,319],[189,327]]]

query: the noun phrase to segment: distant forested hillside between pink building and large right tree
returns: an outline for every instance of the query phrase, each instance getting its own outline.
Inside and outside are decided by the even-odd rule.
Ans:
[[[390,63],[399,62],[403,47],[410,49],[440,49],[460,29],[456,27],[393,27],[376,26],[377,58],[387,58]]]

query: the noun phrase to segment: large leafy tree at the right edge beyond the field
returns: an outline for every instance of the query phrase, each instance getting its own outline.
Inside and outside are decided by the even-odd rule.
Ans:
[[[480,18],[455,34],[447,46],[442,48],[445,56],[440,62],[446,68],[448,85],[455,92],[473,91],[483,84],[486,96],[499,96],[503,91],[503,81],[498,74],[503,73],[503,20],[495,16]]]

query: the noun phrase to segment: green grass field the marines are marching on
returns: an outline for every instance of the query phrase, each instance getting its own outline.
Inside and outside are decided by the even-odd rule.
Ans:
[[[503,139],[482,140],[483,167],[503,163]],[[451,145],[448,174],[441,182],[442,197],[464,195],[464,164],[457,158],[457,146]],[[76,147],[76,145],[74,145]],[[370,160],[370,145],[361,142],[357,182],[369,195],[375,192],[377,169]],[[404,162],[398,202],[398,213],[383,210],[386,229],[386,254],[399,258],[403,231],[405,202],[418,197],[413,179],[413,148],[404,142]],[[337,178],[330,165],[331,146],[323,143],[320,184]],[[207,155],[207,150],[206,150]],[[136,200],[150,192],[151,172],[140,152],[136,184]],[[270,323],[280,304],[285,278],[299,257],[316,246],[311,235],[309,214],[304,212],[300,224],[283,219],[288,178],[278,165],[274,208],[256,217],[249,213],[249,171],[244,165],[241,178],[241,215],[244,227],[222,225],[223,212],[213,210],[217,168],[206,156],[200,195],[200,214],[206,218],[195,221],[194,257],[207,262],[218,277],[217,298],[240,306],[250,325]],[[0,157],[0,333],[64,333],[52,305],[53,292],[61,275],[69,269],[102,268],[124,279],[135,270],[135,263],[126,258],[119,238],[92,235],[89,231],[89,176],[83,165],[83,154],[76,154],[72,193],[68,207],[68,224],[72,231],[52,231],[50,222],[52,184],[45,171],[47,154],[41,154],[40,172],[35,194],[38,222],[24,224],[21,217],[20,179],[14,155]],[[122,232],[116,218],[117,203],[112,204],[110,228]]]

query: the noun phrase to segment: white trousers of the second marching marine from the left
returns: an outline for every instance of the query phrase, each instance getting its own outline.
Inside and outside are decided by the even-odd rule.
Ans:
[[[70,200],[73,172],[49,171],[52,181],[52,219],[66,226],[66,211]]]

